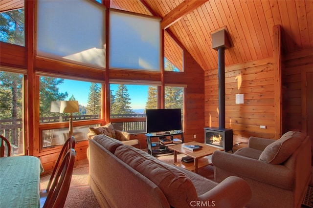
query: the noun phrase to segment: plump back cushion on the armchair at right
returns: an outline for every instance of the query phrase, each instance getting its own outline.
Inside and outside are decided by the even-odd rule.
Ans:
[[[305,135],[297,131],[285,133],[279,140],[268,145],[261,153],[259,160],[269,164],[281,164],[301,145]]]

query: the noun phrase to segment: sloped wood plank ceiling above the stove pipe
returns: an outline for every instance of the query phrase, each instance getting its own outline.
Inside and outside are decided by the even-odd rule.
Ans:
[[[223,27],[232,45],[225,50],[226,66],[272,57],[272,28],[277,24],[282,26],[283,53],[313,48],[313,0],[201,1],[111,0],[110,7],[161,17],[161,26],[204,71],[218,67],[211,33]]]

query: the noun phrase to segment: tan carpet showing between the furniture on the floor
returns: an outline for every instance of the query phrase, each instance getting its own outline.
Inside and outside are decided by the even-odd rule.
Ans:
[[[185,155],[179,154],[178,160]],[[174,163],[174,156],[160,156],[157,159],[172,165]],[[88,160],[78,161],[73,170],[73,176],[69,191],[67,194],[67,200],[65,202],[65,208],[100,208],[93,192],[88,185],[88,173],[89,173],[89,163]],[[199,169],[199,174],[209,178],[214,179],[213,176],[213,166],[206,166]],[[43,191],[47,184],[50,175],[45,175],[41,177],[41,191]]]

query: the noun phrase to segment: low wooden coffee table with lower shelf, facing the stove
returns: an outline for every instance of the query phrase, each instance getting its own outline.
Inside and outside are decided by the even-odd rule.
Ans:
[[[202,146],[202,148],[199,150],[191,151],[183,148],[182,147],[183,145],[200,145]],[[194,171],[195,173],[198,173],[198,168],[210,165],[208,159],[204,158],[205,156],[211,155],[215,151],[224,151],[223,149],[208,146],[199,142],[187,142],[179,145],[168,146],[168,148],[174,150],[174,165],[181,166],[190,171]],[[178,152],[189,157],[192,157],[194,159],[194,162],[193,163],[185,163],[182,161],[177,162]]]

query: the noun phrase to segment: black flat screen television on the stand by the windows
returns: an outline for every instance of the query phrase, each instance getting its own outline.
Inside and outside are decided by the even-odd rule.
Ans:
[[[181,130],[181,109],[146,109],[147,133]]]

